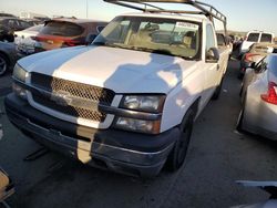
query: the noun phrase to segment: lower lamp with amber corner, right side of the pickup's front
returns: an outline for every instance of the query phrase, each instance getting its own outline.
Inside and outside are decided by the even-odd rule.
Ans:
[[[117,128],[140,132],[146,134],[158,134],[161,121],[144,121],[144,119],[134,119],[127,117],[117,117],[115,125]]]

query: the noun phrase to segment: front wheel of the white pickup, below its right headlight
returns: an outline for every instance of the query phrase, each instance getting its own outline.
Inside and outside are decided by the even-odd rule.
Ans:
[[[177,170],[184,164],[193,132],[193,123],[194,112],[188,110],[179,125],[179,137],[175,142],[174,147],[167,157],[166,165],[167,169],[171,171]]]

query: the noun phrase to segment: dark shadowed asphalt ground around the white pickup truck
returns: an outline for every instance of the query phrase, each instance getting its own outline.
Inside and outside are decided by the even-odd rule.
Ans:
[[[240,108],[238,62],[230,61],[222,96],[209,102],[196,121],[185,166],[175,174],[163,170],[143,180],[81,165],[55,153],[24,162],[39,145],[24,137],[1,115],[0,165],[13,178],[17,193],[11,207],[229,207],[267,199],[261,190],[244,188],[238,179],[275,180],[277,143],[235,132]],[[3,94],[10,74],[1,77]]]

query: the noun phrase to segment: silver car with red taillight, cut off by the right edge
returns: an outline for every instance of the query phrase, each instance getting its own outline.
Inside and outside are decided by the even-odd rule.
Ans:
[[[277,54],[246,70],[240,95],[238,131],[277,139]]]

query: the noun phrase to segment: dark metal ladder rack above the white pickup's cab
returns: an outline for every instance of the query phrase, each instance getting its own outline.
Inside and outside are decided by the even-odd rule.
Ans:
[[[152,13],[177,13],[177,14],[204,14],[213,23],[214,19],[219,20],[224,24],[225,34],[227,34],[227,18],[208,3],[204,3],[197,0],[104,0],[109,3],[127,7],[131,9],[140,10],[143,12]],[[183,3],[192,6],[201,11],[184,11],[184,10],[170,10],[161,7],[156,7],[152,3]]]

